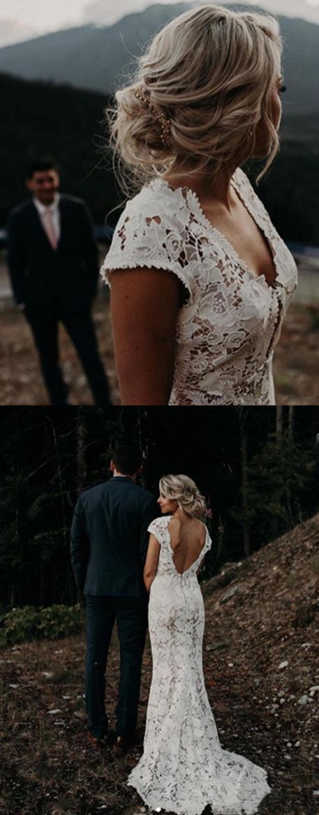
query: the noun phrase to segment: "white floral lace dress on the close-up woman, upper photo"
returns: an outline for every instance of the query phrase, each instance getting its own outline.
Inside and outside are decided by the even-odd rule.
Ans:
[[[109,285],[114,269],[136,267],[172,271],[184,284],[171,405],[275,403],[272,356],[297,270],[245,173],[231,183],[272,250],[272,286],[212,227],[193,190],[163,178],[126,204],[101,268]]]

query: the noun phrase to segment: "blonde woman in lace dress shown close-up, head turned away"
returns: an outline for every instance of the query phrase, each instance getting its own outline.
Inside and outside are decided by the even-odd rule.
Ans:
[[[113,146],[138,192],[101,269],[122,404],[275,403],[296,267],[241,168],[276,156],[284,90],[277,20],[203,6],[117,92]]]

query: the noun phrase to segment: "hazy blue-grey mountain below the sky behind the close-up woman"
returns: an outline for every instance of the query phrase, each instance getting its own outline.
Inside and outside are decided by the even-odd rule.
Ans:
[[[113,93],[131,71],[144,44],[168,20],[188,8],[186,2],[175,6],[157,3],[103,28],[86,24],[6,46],[0,49],[0,71]],[[317,112],[318,26],[282,16],[279,21],[286,42],[284,70],[289,88],[285,104],[296,114]]]

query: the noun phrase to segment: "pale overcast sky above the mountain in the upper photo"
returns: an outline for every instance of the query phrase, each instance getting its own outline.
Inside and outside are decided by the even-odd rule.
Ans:
[[[157,0],[157,2],[171,2],[175,0]],[[205,2],[205,0],[203,0]],[[69,25],[82,24],[89,19],[87,8],[97,5],[97,0],[1,0],[0,20],[6,20],[17,26],[33,29],[37,33],[67,28]],[[152,5],[152,0],[104,0],[104,7],[109,11],[109,22],[113,23],[130,11],[138,11]],[[255,0],[255,5],[263,5],[262,0]],[[291,7],[318,15],[319,0],[272,0],[264,2],[264,6],[273,7],[274,12],[287,13]],[[301,14],[300,14],[301,15]],[[313,17],[312,17],[313,19]]]

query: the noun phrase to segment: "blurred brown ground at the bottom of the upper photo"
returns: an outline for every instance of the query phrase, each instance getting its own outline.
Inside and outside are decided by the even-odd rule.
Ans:
[[[109,302],[100,293],[94,309],[100,353],[109,375],[113,403],[119,403],[114,369]],[[33,338],[23,315],[13,308],[0,311],[0,370],[2,405],[45,405],[47,394],[38,368]],[[60,351],[65,381],[70,386],[70,402],[91,404],[76,352],[60,327]],[[319,306],[290,306],[281,340],[275,352],[274,375],[277,403],[281,405],[319,404]]]

